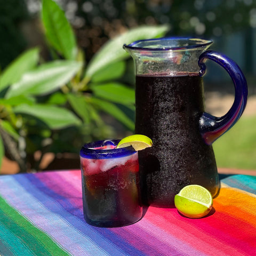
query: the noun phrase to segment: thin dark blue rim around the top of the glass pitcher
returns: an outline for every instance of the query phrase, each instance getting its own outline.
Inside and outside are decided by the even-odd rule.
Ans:
[[[183,41],[194,41],[194,42],[202,42],[199,44],[191,44],[191,45],[185,45],[185,46],[171,46],[171,47],[157,47],[157,48],[150,48],[150,47],[136,47],[134,45],[140,43],[140,42],[149,42],[149,41],[167,41],[167,40],[183,40]],[[131,50],[139,50],[139,51],[169,51],[169,50],[188,50],[188,49],[195,49],[199,47],[206,47],[210,46],[213,43],[212,40],[206,40],[206,39],[200,39],[195,37],[161,37],[161,38],[153,38],[153,39],[142,39],[134,41],[133,43],[130,43],[128,45],[124,44],[123,47]]]

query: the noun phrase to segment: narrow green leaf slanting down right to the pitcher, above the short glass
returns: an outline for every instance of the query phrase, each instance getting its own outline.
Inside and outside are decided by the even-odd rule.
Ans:
[[[109,115],[115,117],[119,122],[126,125],[130,130],[134,130],[134,122],[127,117],[121,109],[119,109],[116,105],[113,103],[110,103],[105,100],[97,99],[97,98],[91,98],[91,102],[93,105],[97,106],[101,110],[105,111]]]

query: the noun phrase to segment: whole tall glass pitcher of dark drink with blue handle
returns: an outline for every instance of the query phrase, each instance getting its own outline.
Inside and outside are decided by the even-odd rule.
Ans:
[[[144,204],[172,207],[174,196],[190,184],[218,194],[220,183],[212,143],[242,115],[247,85],[236,63],[206,49],[212,41],[158,38],[124,45],[135,62],[135,133],[153,140],[139,152]],[[226,115],[204,112],[202,76],[206,59],[226,69],[235,100]]]

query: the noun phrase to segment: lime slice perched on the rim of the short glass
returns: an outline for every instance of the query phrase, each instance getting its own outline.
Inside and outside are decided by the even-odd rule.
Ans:
[[[145,135],[134,134],[122,139],[117,148],[124,148],[128,146],[132,146],[136,151],[142,150],[153,145],[152,140]]]

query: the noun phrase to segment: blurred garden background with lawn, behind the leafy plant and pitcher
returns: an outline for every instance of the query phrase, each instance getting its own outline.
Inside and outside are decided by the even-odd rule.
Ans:
[[[249,101],[241,120],[214,142],[218,166],[256,169],[256,0],[58,0],[75,31],[77,44],[89,62],[109,38],[140,25],[169,25],[166,36],[212,39],[212,50],[225,53],[243,70],[249,86]],[[50,59],[40,20],[40,0],[0,0],[0,66],[4,69],[20,53],[41,47]],[[129,60],[128,60],[129,61]],[[130,60],[132,63],[132,61]],[[132,64],[131,64],[132,65]],[[133,83],[133,77],[124,79]],[[130,79],[130,80],[129,80]],[[206,110],[223,115],[233,103],[230,77],[207,62]],[[118,127],[113,136],[131,133]],[[235,138],[235,139],[234,139]]]

